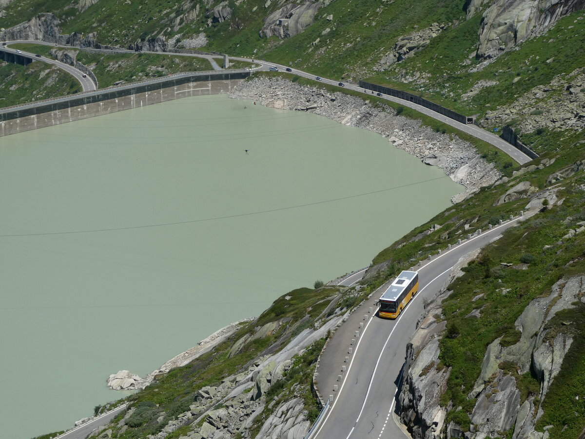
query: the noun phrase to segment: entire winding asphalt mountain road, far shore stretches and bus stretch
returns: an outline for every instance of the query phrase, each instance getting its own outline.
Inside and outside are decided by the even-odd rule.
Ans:
[[[10,43],[41,42],[19,41]],[[53,45],[50,43],[43,44]],[[13,49],[3,50],[12,51]],[[160,54],[159,52],[155,53]],[[35,54],[26,52],[22,54],[35,56]],[[210,61],[214,58],[213,56],[198,54],[170,54],[206,57]],[[39,59],[38,57],[36,58]],[[230,59],[259,64],[256,70],[269,70],[270,67],[278,68],[278,70],[285,70],[287,68],[280,64],[244,57],[230,57]],[[40,57],[40,60],[49,64],[55,64],[73,74],[84,86],[84,91],[86,91],[85,87],[87,87],[87,91],[95,90],[95,84],[92,83],[90,78],[82,77],[80,70],[67,64],[59,63],[59,61],[47,59],[46,57]],[[297,76],[313,80],[316,79],[314,75],[307,72],[291,67],[288,68],[291,70],[290,73]],[[328,78],[319,78],[319,80],[323,83],[342,88],[338,81]],[[343,88],[364,92],[364,94],[368,95],[371,94],[369,91],[364,91],[363,88],[355,84],[344,84]],[[526,156],[517,148],[514,148],[510,143],[484,131],[478,126],[461,124],[413,102],[400,100],[388,95],[382,95],[382,97],[393,102],[398,102],[406,107],[414,108],[460,131],[485,140],[496,148],[503,150],[518,163],[524,164],[531,160],[530,157]],[[401,376],[401,370],[405,360],[405,347],[416,328],[419,315],[424,310],[423,301],[435,296],[439,289],[441,289],[443,283],[445,283],[445,280],[449,276],[450,270],[461,256],[487,245],[487,243],[497,238],[505,229],[517,224],[520,219],[522,217],[507,221],[490,231],[463,241],[460,245],[454,246],[449,251],[435,256],[429,261],[425,261],[421,267],[417,268],[419,272],[419,292],[397,320],[383,320],[375,315],[376,307],[374,302],[381,296],[381,293],[387,285],[381,287],[380,290],[374,293],[369,300],[362,304],[349,317],[347,322],[335,332],[321,358],[317,385],[325,399],[329,395],[332,395],[333,399],[322,423],[314,435],[312,435],[313,438],[395,439],[402,437],[404,432],[391,418],[393,417],[395,393],[400,385],[399,377]],[[350,286],[356,283],[357,280],[362,278],[365,270],[362,269],[347,276],[340,284]],[[373,312],[369,312],[370,307]],[[360,327],[360,324],[362,324],[362,327]],[[356,331],[359,331],[359,337],[356,337]],[[352,339],[355,342],[352,343]],[[350,349],[352,351],[351,354],[349,354]],[[345,361],[346,356],[348,357],[347,362]],[[343,368],[346,370],[342,370]],[[338,380],[338,376],[342,378]],[[335,386],[338,386],[337,390],[333,390]],[[77,428],[62,435],[61,438],[77,439],[85,437],[84,434],[91,433],[91,429],[105,424],[107,420],[108,417],[102,417],[91,421],[91,424],[84,424],[84,429],[81,429],[81,427]],[[90,429],[87,430],[87,428]]]

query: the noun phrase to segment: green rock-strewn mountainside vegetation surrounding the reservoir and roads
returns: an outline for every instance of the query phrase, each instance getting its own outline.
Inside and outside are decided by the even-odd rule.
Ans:
[[[339,317],[400,269],[530,206],[539,212],[510,229],[463,270],[464,276],[450,286],[452,294],[444,301],[443,313],[436,316],[446,330],[441,334],[441,354],[434,366],[438,372],[449,371],[440,404],[449,422],[462,434],[474,437],[474,407],[481,396],[472,391],[488,346],[517,343],[520,335],[515,321],[522,310],[531,301],[548,297],[556,283],[585,271],[584,7],[575,0],[5,2],[0,13],[0,27],[6,29],[2,35],[8,35],[12,26],[51,13],[59,23],[51,32],[39,33],[46,40],[75,35],[71,42],[78,46],[215,51],[294,65],[348,82],[366,79],[476,115],[479,124],[490,131],[510,125],[541,155],[522,169],[508,169],[507,177],[492,187],[483,188],[387,246],[374,257],[370,275],[359,286],[284,294],[259,320],[242,327],[216,351],[157,376],[152,386],[129,397],[129,409],[94,437],[101,437],[104,431],[114,438],[149,434],[168,439],[197,437],[201,428],[207,428],[204,424],[211,422],[204,417],[207,411],[200,411],[201,401],[208,399],[198,393],[204,387],[219,388],[227,375],[252,373],[260,364],[259,358],[279,352],[284,342],[301,331]],[[505,26],[498,28],[503,22]],[[19,35],[33,36],[32,25],[20,26]],[[79,56],[105,74],[105,57],[82,51]],[[132,57],[138,59],[139,55]],[[159,75],[160,71],[149,70],[148,64],[156,67],[160,59],[148,57],[143,54],[136,69]],[[36,64],[27,69],[37,71]],[[33,77],[25,75],[23,69],[0,66],[1,78],[16,81],[10,83],[8,91],[8,95],[18,95],[16,102],[25,99],[19,90],[25,90],[23,85]],[[127,69],[116,77],[110,69],[107,81],[130,81],[141,77],[139,73]],[[36,94],[49,97],[74,91],[67,85]],[[494,160],[495,152],[484,156]],[[518,185],[526,188],[513,191]],[[294,306],[286,299],[290,296],[299,298]],[[532,404],[538,433],[534,437],[548,437],[545,427],[550,437],[567,439],[579,437],[583,430],[583,397],[575,390],[581,389],[585,375],[582,302],[546,323],[549,334],[566,332],[574,342],[544,399],[539,393],[543,379],[534,371],[519,373],[509,362],[498,365],[500,376],[512,376],[522,401]],[[481,313],[472,314],[478,310]],[[274,322],[278,327],[254,338],[254,334],[263,334],[261,328]],[[240,340],[249,349],[230,355]],[[234,437],[253,437],[261,422],[267,422],[278,407],[295,398],[300,398],[307,410],[304,421],[314,419],[318,407],[307,381],[322,343],[315,342],[291,360],[283,382],[270,383],[273,387],[267,395],[276,405],[261,411],[255,423],[250,421]],[[234,382],[239,380],[234,378]],[[483,397],[494,394],[490,391]],[[207,403],[211,406],[205,410],[213,409],[214,413],[229,412],[243,404],[236,401],[222,406],[226,402],[215,399]],[[496,436],[522,438],[514,427],[491,434]]]

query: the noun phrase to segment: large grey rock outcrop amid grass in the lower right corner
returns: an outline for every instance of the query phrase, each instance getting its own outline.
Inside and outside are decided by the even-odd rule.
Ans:
[[[514,439],[548,437],[547,433],[534,430],[543,414],[539,403],[559,373],[573,338],[570,330],[558,331],[547,323],[558,311],[572,308],[574,302],[583,300],[584,293],[585,276],[559,280],[548,297],[533,300],[518,317],[515,327],[521,332],[521,338],[516,344],[502,346],[500,337],[488,346],[481,374],[469,395],[477,397],[472,413],[474,431],[467,434],[469,437],[497,437],[498,432],[506,432],[513,426]],[[514,365],[515,373],[503,370],[502,365]],[[521,401],[514,379],[531,370],[541,383],[540,402],[534,396]]]

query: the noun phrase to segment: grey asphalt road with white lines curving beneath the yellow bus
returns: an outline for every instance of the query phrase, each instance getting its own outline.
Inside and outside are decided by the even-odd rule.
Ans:
[[[394,397],[405,361],[406,345],[424,310],[425,298],[435,296],[461,256],[491,242],[505,229],[517,224],[519,219],[505,222],[423,262],[424,265],[417,269],[419,291],[396,320],[375,315],[374,302],[390,282],[372,294],[348,318],[321,356],[317,386],[325,399],[333,396],[333,403],[313,439],[406,437],[393,419]],[[374,312],[369,313],[370,307]],[[363,328],[360,328],[360,323]],[[359,337],[355,331],[360,331]],[[352,338],[355,339],[353,344]],[[349,354],[349,348],[352,348],[352,354]],[[345,356],[349,357],[349,362],[345,362]],[[345,372],[342,372],[342,366],[346,367]],[[340,381],[339,375],[342,375]],[[335,385],[338,386],[337,392],[333,390]]]

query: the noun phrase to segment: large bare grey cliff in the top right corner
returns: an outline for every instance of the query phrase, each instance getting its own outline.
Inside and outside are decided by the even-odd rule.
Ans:
[[[467,15],[473,15],[479,4],[472,1]],[[496,0],[483,14],[477,57],[497,57],[562,16],[583,8],[583,0]]]

